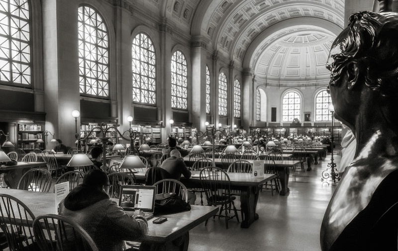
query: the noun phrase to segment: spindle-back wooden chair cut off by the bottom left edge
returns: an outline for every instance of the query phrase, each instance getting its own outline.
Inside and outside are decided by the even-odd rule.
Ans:
[[[7,245],[4,245],[8,246],[7,250],[37,250],[32,228],[34,219],[32,211],[22,201],[8,194],[0,194],[0,228],[7,241]]]

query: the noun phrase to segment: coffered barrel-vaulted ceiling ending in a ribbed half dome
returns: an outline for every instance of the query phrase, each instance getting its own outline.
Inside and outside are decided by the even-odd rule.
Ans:
[[[326,80],[344,0],[132,0],[270,85]],[[156,8],[155,8],[156,9]]]

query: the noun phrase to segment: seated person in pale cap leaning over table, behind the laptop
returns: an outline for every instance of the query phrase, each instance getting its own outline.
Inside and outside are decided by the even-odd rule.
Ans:
[[[167,158],[161,168],[165,169],[171,174],[171,177],[176,180],[180,180],[181,174],[185,178],[191,177],[191,171],[185,166],[183,158],[181,157],[180,151],[172,150],[170,158]],[[196,195],[192,192],[188,192],[188,203],[194,205],[196,201]]]

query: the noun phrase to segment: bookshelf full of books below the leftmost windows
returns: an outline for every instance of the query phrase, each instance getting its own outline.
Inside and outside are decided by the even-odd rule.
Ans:
[[[17,125],[17,148],[24,150],[25,152],[31,152],[34,149],[45,149],[45,143],[36,143],[38,139],[43,139],[44,124],[33,124],[33,123],[18,123]]]

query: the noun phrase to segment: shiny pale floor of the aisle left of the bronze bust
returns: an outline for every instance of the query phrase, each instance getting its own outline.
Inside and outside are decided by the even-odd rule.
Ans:
[[[249,229],[240,228],[236,219],[230,220],[226,229],[224,219],[211,218],[207,226],[203,223],[190,231],[188,250],[319,251],[320,225],[336,187],[321,182],[330,156],[313,165],[311,171],[291,170],[286,196],[271,196],[270,190],[263,190],[257,204],[260,218]],[[338,167],[341,155],[335,151],[334,158]],[[240,207],[239,199],[235,205]]]

